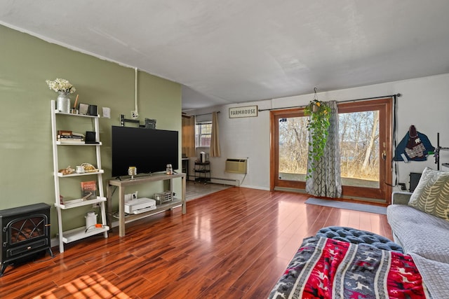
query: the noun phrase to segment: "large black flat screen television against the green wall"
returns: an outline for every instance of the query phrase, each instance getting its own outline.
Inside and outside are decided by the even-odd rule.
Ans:
[[[178,132],[142,127],[112,126],[112,176],[128,176],[128,167],[138,174],[178,168]]]

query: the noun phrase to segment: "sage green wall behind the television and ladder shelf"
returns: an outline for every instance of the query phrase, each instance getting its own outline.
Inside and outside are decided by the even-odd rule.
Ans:
[[[79,102],[97,105],[100,115],[103,106],[111,109],[110,119],[100,118],[102,168],[105,169],[103,181],[106,181],[111,176],[111,126],[119,125],[120,114],[130,118],[130,111],[134,110],[135,69],[69,50],[1,25],[0,41],[0,209],[38,202],[51,204],[54,237],[57,216],[50,107],[51,99],[55,99],[57,93],[50,90],[45,81],[65,78],[72,83],[76,88],[72,104],[79,95]],[[154,118],[156,128],[180,131],[180,84],[139,71],[138,112],[142,123],[145,118]],[[86,130],[80,127],[74,131]],[[179,138],[181,141],[181,134]],[[76,157],[72,167],[81,162],[95,162],[89,160],[91,158],[84,160],[83,153],[76,149],[68,155]],[[67,166],[60,165],[60,168]],[[68,185],[61,190],[62,195],[79,198],[78,182],[69,182]],[[106,183],[104,185],[106,187]],[[165,188],[162,183],[142,188],[139,196],[150,197]],[[180,194],[180,182],[175,184],[175,192]],[[114,209],[117,207],[116,194],[112,206]],[[86,211],[90,210],[86,207],[63,211],[64,229],[82,225]]]

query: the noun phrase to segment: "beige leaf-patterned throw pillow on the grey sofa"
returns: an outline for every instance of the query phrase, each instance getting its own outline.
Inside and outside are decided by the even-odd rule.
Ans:
[[[449,172],[426,167],[408,205],[449,221]]]

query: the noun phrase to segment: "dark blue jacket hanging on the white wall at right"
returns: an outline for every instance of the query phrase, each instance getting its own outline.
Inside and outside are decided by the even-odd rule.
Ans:
[[[414,125],[410,125],[408,133],[399,142],[394,152],[394,161],[425,161],[427,155],[433,153],[435,147],[431,145],[426,135],[417,132]]]

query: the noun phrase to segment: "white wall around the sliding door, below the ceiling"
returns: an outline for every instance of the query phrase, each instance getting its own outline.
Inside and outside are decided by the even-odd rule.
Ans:
[[[440,132],[441,146],[449,147],[449,74],[319,92],[318,99],[346,101],[397,93],[402,95],[402,97],[398,97],[397,105],[397,142],[405,136],[410,125],[415,125],[419,132],[429,137],[433,146],[436,146],[436,133]],[[248,175],[241,186],[269,190],[269,111],[260,111],[259,115],[254,118],[229,118],[229,108],[252,105],[258,105],[258,109],[300,106],[307,104],[313,98],[314,94],[311,93],[310,95],[189,111],[191,115],[220,111],[218,120],[222,155],[220,158],[210,158],[211,176],[243,179],[243,174],[225,173],[225,160],[248,157]],[[449,162],[449,151],[441,152],[441,160]],[[398,181],[407,184],[410,172],[422,172],[426,166],[436,169],[433,155],[424,162],[397,162],[397,165]],[[441,169],[449,170],[445,167],[441,167]]]

